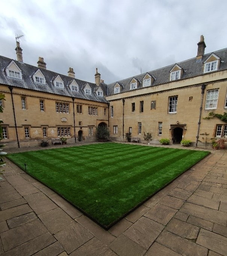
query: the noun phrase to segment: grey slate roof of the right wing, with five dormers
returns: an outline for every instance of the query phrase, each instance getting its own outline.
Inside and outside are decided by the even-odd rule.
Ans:
[[[114,86],[115,86],[116,83],[121,84],[123,86],[120,93],[130,91],[130,81],[132,81],[132,78],[135,78],[136,80],[140,81],[140,84],[137,86],[137,89],[135,89],[135,90],[141,89],[142,88],[142,78],[147,73],[152,75],[153,77],[155,77],[155,80],[154,80],[154,82],[151,86],[157,86],[159,84],[174,82],[176,80],[169,81],[169,71],[171,71],[171,69],[176,64],[178,64],[180,67],[182,67],[182,69],[185,71],[183,73],[183,76],[182,76],[181,79],[196,77],[198,75],[202,75],[202,74],[204,74],[203,73],[203,62],[212,53],[217,55],[217,57],[221,58],[221,61],[224,61],[224,62],[220,63],[218,71],[227,69],[227,48],[225,48],[225,49],[222,49],[222,50],[219,50],[219,51],[204,54],[201,61],[197,61],[196,57],[195,57],[195,58],[191,58],[189,60],[185,60],[185,61],[182,61],[182,62],[179,62],[179,63],[174,63],[174,64],[166,66],[166,67],[162,67],[160,69],[156,69],[154,71],[148,71],[148,72],[146,72],[144,74],[141,74],[141,75],[136,75],[134,77],[129,77],[129,78],[126,78],[124,80],[120,80],[120,81],[116,81],[114,83],[108,84],[107,85],[108,86],[108,95],[113,95],[114,94]],[[213,71],[213,72],[216,72],[216,71]],[[212,72],[209,72],[209,73],[212,73]]]

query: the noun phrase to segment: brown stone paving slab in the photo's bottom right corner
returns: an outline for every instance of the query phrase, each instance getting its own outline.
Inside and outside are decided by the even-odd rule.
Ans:
[[[196,243],[216,253],[227,256],[227,238],[224,236],[201,228]]]

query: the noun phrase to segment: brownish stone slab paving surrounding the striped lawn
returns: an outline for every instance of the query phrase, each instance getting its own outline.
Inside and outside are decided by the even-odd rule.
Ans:
[[[227,255],[227,150],[210,151],[108,231],[7,160],[0,255]]]

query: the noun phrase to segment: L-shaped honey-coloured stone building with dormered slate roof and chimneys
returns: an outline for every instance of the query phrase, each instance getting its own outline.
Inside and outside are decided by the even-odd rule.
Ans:
[[[227,112],[227,48],[205,54],[204,37],[194,58],[111,84],[96,69],[95,83],[23,63],[17,42],[17,61],[0,56],[0,102],[4,112],[4,143],[11,147],[38,145],[42,139],[67,136],[68,143],[95,141],[98,125],[109,127],[110,138],[126,141],[125,133],[143,140],[152,134],[171,143],[190,139],[203,147],[210,138],[227,136],[227,124],[210,112]],[[204,135],[204,134],[208,135]]]

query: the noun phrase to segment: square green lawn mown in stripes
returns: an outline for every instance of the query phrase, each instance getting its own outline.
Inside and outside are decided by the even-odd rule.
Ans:
[[[107,229],[209,153],[100,143],[7,157]]]

